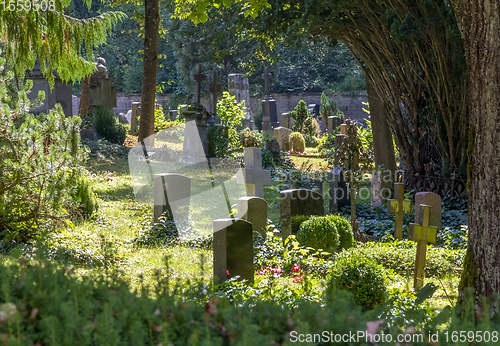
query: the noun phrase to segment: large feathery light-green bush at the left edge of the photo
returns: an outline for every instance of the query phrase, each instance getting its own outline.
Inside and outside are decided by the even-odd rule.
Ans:
[[[86,152],[79,117],[66,118],[60,105],[47,115],[29,114],[24,91],[11,108],[4,102],[9,83],[0,81],[0,240],[26,242],[79,209],[75,182]]]

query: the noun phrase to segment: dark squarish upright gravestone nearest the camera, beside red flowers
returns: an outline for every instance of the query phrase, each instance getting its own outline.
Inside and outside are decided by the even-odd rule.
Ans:
[[[254,282],[252,224],[243,219],[214,220],[214,283],[239,276]]]

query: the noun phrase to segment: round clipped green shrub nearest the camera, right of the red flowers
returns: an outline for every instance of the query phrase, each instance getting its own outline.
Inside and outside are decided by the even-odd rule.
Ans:
[[[335,288],[351,292],[357,305],[371,309],[385,300],[385,276],[382,266],[364,256],[339,256],[326,293],[332,295]]]

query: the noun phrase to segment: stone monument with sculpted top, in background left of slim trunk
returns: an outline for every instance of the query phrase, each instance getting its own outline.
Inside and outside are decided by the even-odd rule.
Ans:
[[[116,88],[108,77],[106,60],[97,58],[97,71],[90,77],[89,96],[91,106],[116,107]]]

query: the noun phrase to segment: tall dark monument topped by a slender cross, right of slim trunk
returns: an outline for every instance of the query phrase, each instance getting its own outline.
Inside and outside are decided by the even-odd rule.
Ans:
[[[185,162],[204,161],[208,155],[208,114],[205,107],[201,105],[200,90],[201,82],[205,76],[201,74],[200,64],[195,65],[195,73],[191,76],[195,81],[193,105],[181,110],[186,119],[184,130],[183,160]]]

